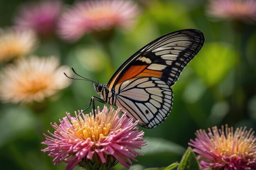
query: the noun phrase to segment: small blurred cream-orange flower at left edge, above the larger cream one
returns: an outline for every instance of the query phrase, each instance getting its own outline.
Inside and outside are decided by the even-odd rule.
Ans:
[[[0,62],[10,62],[34,51],[38,40],[32,30],[0,29]]]

